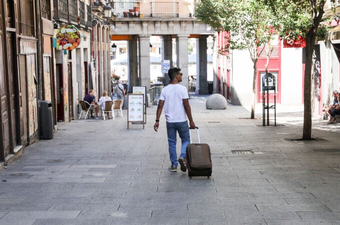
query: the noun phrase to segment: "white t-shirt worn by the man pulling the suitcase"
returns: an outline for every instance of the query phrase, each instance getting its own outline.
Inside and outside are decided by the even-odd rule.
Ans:
[[[159,99],[164,100],[165,119],[168,122],[186,121],[186,114],[183,105],[183,99],[189,98],[185,86],[177,84],[168,84],[161,92]]]

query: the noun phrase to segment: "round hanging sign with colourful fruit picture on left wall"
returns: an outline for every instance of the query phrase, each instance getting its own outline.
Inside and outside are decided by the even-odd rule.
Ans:
[[[79,46],[80,41],[80,32],[73,25],[64,25],[56,31],[57,50],[73,50]]]

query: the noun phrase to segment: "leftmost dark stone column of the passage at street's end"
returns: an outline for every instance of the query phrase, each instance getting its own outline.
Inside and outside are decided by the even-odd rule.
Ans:
[[[132,86],[140,83],[138,77],[138,36],[132,35],[132,40],[128,41],[128,89],[131,92]]]

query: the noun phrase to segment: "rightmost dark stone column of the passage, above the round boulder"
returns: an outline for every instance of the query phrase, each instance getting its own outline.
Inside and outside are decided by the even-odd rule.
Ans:
[[[206,38],[207,35],[201,35],[198,38],[198,44],[196,43],[197,47],[197,77],[196,77],[196,94],[207,94],[208,93],[208,83],[206,80],[207,76],[207,55],[206,55]]]

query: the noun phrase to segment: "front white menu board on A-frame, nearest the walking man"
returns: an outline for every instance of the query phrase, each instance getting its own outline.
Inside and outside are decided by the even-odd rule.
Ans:
[[[127,128],[129,122],[140,122],[144,129],[144,95],[128,94],[127,95]]]

